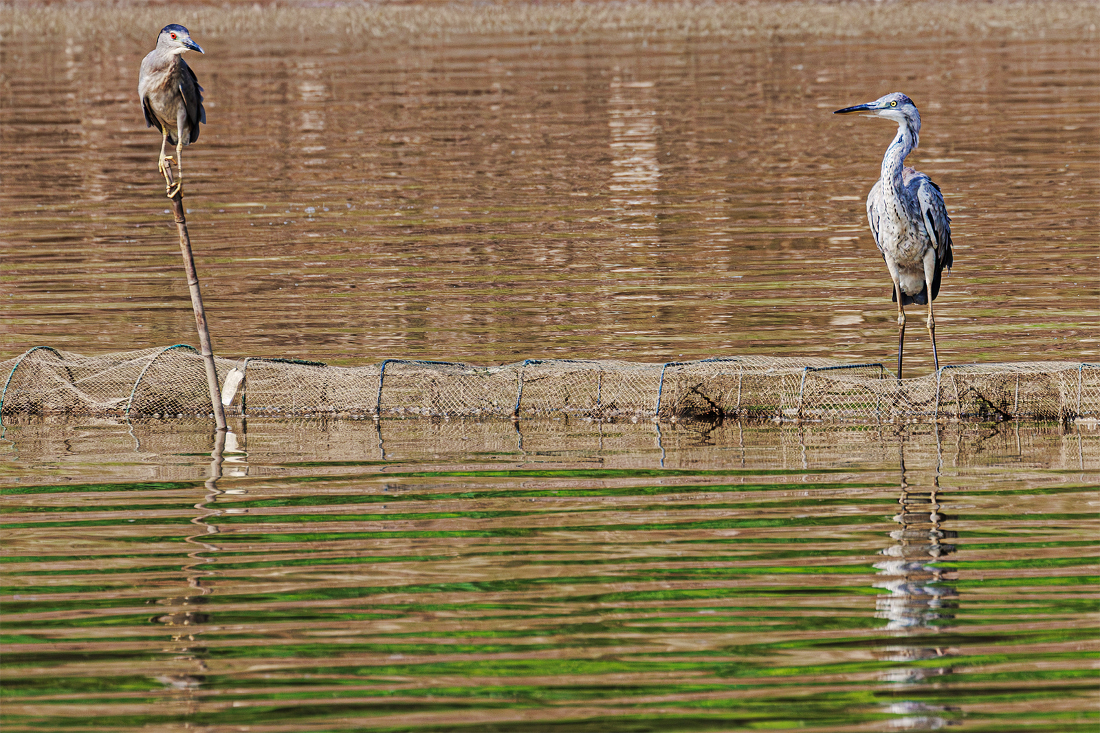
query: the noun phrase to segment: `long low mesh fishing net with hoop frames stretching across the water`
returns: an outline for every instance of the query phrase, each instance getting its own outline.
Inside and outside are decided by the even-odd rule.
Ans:
[[[501,366],[387,359],[330,366],[296,359],[216,360],[229,414],[537,417],[718,422],[1068,420],[1100,417],[1100,365],[944,366],[897,380],[882,364],[718,357],[646,364],[529,359]],[[35,347],[0,362],[3,415],[183,417],[211,411],[189,346],[82,357]]]

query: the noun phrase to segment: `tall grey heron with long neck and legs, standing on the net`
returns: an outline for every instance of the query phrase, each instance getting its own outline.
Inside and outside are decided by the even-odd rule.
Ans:
[[[834,114],[868,112],[898,123],[898,134],[882,156],[882,172],[867,195],[867,220],[875,243],[887,261],[893,280],[893,300],[898,304],[898,379],[901,379],[901,353],[905,343],[905,306],[928,304],[928,336],[932,359],[936,354],[936,321],[932,302],[939,295],[944,267],[952,269],[952,220],[944,196],[932,178],[904,164],[905,156],[920,143],[921,113],[913,100],[900,92],[879,97],[866,105],[845,107]]]

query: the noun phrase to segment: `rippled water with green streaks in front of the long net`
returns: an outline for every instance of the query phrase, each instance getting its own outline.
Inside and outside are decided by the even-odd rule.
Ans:
[[[1084,426],[62,425],[4,433],[6,730],[1094,724]]]

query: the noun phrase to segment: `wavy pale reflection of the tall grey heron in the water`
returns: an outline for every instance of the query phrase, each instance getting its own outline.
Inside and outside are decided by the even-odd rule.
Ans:
[[[931,490],[913,490],[905,475],[903,447],[899,453],[901,511],[893,521],[900,527],[890,533],[893,544],[879,550],[883,559],[875,564],[882,578],[875,588],[889,591],[878,597],[875,616],[887,622],[886,631],[912,636],[920,643],[891,644],[876,649],[873,655],[881,661],[901,665],[887,669],[879,679],[891,683],[892,692],[903,697],[916,692],[917,686],[943,681],[954,672],[949,659],[958,650],[937,644],[935,634],[945,628],[958,609],[958,592],[950,584],[956,575],[936,562],[955,553],[955,545],[946,540],[958,534],[944,529],[949,517],[942,511],[938,467]],[[943,664],[928,664],[935,659]],[[905,699],[886,707],[886,712],[903,715],[891,721],[893,727],[903,730],[937,730],[955,724],[956,715],[952,713],[957,711],[950,705]]]

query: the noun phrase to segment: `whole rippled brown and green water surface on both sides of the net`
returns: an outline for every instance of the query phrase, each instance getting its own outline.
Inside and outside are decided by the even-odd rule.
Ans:
[[[0,359],[194,341],[135,101],[183,22],[219,355],[889,360],[892,130],[831,111],[897,89],[941,357],[1100,360],[1094,6],[441,7],[0,6]],[[1100,724],[1094,424],[232,428],[4,417],[6,732]]]

